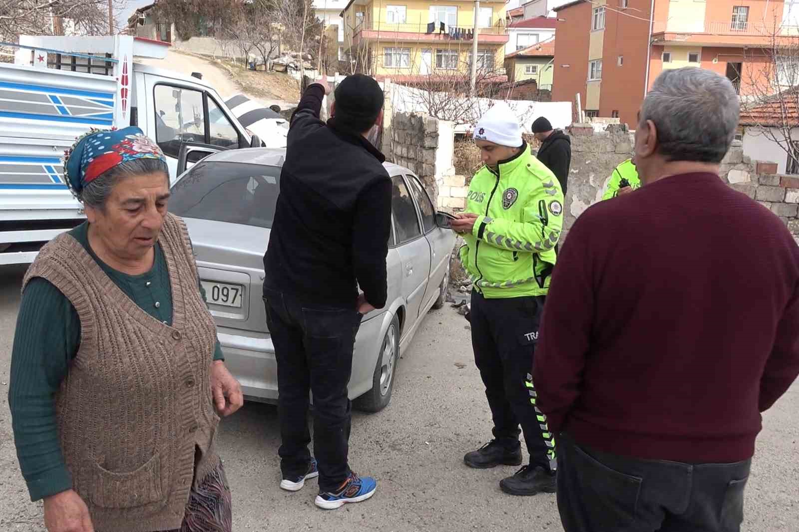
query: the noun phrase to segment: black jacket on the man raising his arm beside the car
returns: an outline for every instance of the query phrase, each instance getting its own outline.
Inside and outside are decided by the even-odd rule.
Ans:
[[[320,121],[323,97],[322,86],[311,85],[292,116],[264,286],[355,308],[357,282],[366,300],[383,308],[392,216],[385,157],[335,118]]]

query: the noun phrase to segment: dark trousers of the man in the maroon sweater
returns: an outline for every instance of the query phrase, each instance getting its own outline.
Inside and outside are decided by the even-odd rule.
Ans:
[[[561,434],[558,462],[558,509],[566,532],[741,530],[751,460],[631,459],[580,446]]]

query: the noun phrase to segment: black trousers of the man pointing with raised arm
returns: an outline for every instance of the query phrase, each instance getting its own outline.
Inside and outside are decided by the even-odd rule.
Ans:
[[[308,392],[313,395],[313,449],[321,491],[336,491],[350,474],[347,463],[352,404],[347,385],[361,315],[352,308],[306,304],[264,288],[269,332],[277,360],[277,411],[284,477],[304,474],[308,443]]]

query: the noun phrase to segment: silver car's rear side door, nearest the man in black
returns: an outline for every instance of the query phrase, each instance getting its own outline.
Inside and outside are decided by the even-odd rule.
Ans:
[[[419,317],[427,278],[430,276],[430,244],[424,237],[419,212],[401,175],[392,177],[392,216],[402,272],[402,297],[407,312],[406,330]]]

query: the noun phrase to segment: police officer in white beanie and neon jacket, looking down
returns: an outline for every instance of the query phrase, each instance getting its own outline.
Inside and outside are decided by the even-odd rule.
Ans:
[[[555,266],[563,193],[555,175],[532,156],[507,106],[486,113],[474,137],[485,166],[472,179],[466,211],[452,228],[466,240],[460,259],[474,286],[471,343],[494,439],[463,461],[478,469],[520,465],[521,424],[530,463],[499,486],[515,495],[554,493],[555,438],[535,407],[530,371]]]

